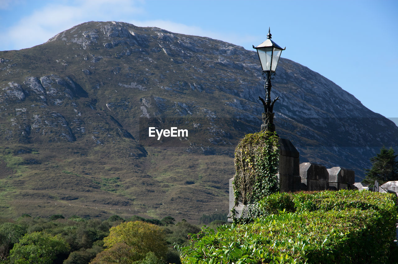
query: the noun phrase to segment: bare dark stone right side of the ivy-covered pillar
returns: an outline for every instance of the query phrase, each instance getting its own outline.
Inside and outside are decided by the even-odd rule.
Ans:
[[[300,154],[289,139],[279,138],[279,173],[281,192],[300,190]]]

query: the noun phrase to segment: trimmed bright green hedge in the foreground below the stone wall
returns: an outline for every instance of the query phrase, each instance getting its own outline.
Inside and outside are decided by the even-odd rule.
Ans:
[[[182,263],[389,263],[397,215],[391,194],[277,193],[259,208],[263,217],[250,224],[193,235],[180,249]]]

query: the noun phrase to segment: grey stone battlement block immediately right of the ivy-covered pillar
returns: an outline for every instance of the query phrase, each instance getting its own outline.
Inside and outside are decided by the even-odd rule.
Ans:
[[[323,191],[328,189],[329,173],[325,166],[304,162],[300,164],[301,189]]]

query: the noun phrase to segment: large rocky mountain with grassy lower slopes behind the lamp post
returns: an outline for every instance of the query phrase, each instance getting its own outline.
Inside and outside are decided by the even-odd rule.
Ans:
[[[0,77],[2,217],[226,214],[234,148],[259,131],[265,95],[254,51],[114,21],[0,52]],[[307,67],[281,58],[272,85],[277,133],[300,162],[359,181],[396,146],[392,121]]]

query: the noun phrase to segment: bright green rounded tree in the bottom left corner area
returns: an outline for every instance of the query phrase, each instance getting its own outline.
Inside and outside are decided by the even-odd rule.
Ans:
[[[20,242],[14,245],[10,251],[10,258],[15,264],[51,264],[57,255],[68,251],[69,245],[60,235],[33,232],[24,235]]]

